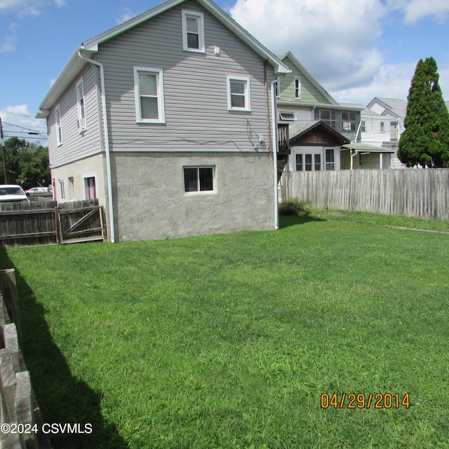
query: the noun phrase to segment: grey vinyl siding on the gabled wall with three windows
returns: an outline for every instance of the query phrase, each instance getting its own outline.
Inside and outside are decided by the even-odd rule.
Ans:
[[[182,9],[204,13],[206,53],[182,50]],[[112,151],[253,152],[257,136],[268,142],[262,58],[196,2],[103,43],[97,59],[105,67]],[[166,123],[136,123],[134,67],[163,70]],[[250,78],[251,112],[227,110],[227,75]],[[268,88],[273,77],[267,66]]]

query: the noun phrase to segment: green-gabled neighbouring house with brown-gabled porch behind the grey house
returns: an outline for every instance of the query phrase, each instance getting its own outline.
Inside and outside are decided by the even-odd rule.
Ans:
[[[279,58],[291,69],[281,78],[276,99],[280,151],[287,153],[290,146],[286,170],[344,168],[348,152],[341,153],[342,161],[340,148],[356,140],[363,106],[337,103],[292,53]]]

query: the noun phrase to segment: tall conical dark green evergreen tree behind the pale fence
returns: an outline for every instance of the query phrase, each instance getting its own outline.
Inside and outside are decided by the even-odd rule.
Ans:
[[[417,63],[398,158],[408,167],[449,167],[449,114],[434,58]]]

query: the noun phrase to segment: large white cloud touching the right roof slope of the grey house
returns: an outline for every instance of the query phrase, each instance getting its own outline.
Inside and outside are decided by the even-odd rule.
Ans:
[[[386,12],[380,0],[237,0],[230,10],[275,53],[292,51],[329,90],[372,81]]]

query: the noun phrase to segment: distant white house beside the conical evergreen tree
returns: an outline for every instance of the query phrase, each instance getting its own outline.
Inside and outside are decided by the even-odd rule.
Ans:
[[[391,150],[384,154],[383,168],[406,168],[397,156],[399,138],[404,130],[407,112],[405,100],[375,97],[362,111],[361,141],[376,147]],[[375,168],[376,159],[365,158],[365,166]],[[379,167],[377,167],[379,168]],[[382,167],[380,167],[382,168]]]

